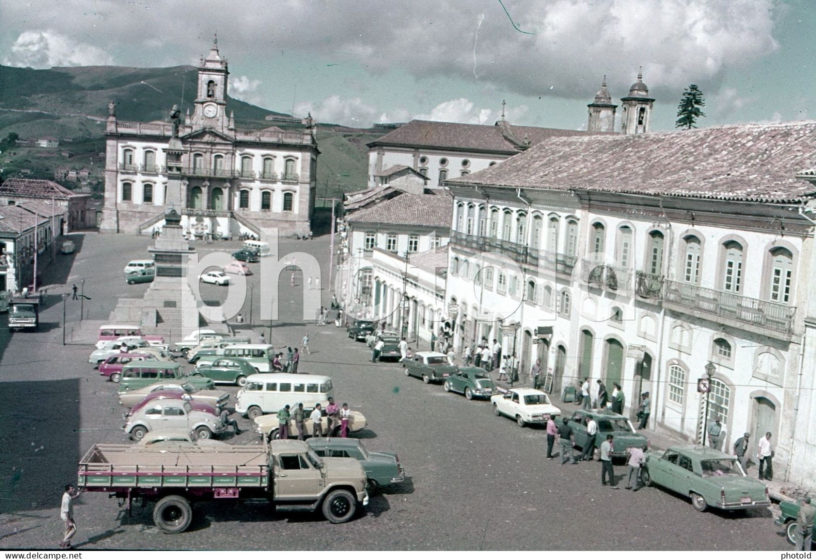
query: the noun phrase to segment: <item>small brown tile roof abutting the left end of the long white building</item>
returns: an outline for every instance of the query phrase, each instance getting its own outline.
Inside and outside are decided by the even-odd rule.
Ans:
[[[450,229],[451,214],[453,214],[453,199],[449,192],[425,195],[404,192],[388,201],[359,210],[348,218],[348,222]]]

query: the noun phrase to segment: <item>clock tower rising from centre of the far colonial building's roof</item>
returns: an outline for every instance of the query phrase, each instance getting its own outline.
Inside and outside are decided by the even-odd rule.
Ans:
[[[190,117],[193,129],[213,128],[226,130],[227,117],[227,59],[218,53],[218,38],[212,43],[210,54],[198,64],[198,90],[195,112]]]

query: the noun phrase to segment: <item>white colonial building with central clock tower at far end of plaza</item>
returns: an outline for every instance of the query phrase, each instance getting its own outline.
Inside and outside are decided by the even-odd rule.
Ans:
[[[317,140],[305,130],[237,129],[227,107],[228,64],[218,46],[198,66],[193,113],[175,122],[118,121],[105,130],[102,231],[161,229],[163,211],[180,209],[190,236],[259,235],[261,227],[311,229]]]

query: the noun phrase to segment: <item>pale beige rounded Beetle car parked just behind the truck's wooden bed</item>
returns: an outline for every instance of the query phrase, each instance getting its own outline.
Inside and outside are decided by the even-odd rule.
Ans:
[[[214,414],[193,409],[186,400],[159,399],[128,417],[122,426],[122,430],[135,441],[153,430],[168,428],[193,430],[198,439],[210,439],[224,431],[224,423]]]

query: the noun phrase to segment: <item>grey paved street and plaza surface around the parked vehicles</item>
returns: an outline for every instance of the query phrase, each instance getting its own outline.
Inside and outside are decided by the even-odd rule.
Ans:
[[[86,322],[108,319],[117,296],[137,297],[146,284],[128,286],[122,267],[140,258],[149,238],[73,236],[78,253],[60,257],[45,275],[51,285],[38,333],[0,329],[0,546],[51,548],[58,542],[60,495],[75,480],[77,461],[93,443],[126,442],[113,383],[87,363],[92,341],[82,342],[79,302],[57,295],[86,278]],[[234,249],[231,245],[206,245]],[[306,251],[326,262],[328,238],[284,240],[281,253]],[[258,265],[251,265],[257,272]],[[250,280],[257,279],[251,276]],[[257,282],[257,280],[255,280]],[[302,279],[298,280],[298,284]],[[441,386],[406,377],[396,364],[371,364],[362,343],[344,329],[299,319],[301,298],[281,278],[282,319],[271,342],[299,346],[310,335],[302,373],[330,375],[335,399],[366,414],[359,434],[371,450],[396,451],[408,481],[372,496],[351,523],[331,525],[317,514],[286,517],[259,506],[198,506],[189,531],[164,535],[149,508],[127,518],[117,500],[82,496],[75,507],[79,549],[789,549],[769,510],[696,512],[690,502],[654,487],[641,492],[600,485],[600,464],[560,465],[544,460],[543,430],[494,417],[490,404],[446,394]],[[207,287],[205,299],[218,289]],[[258,286],[255,286],[257,321]],[[330,292],[322,291],[327,305]],[[248,310],[244,312],[248,320]],[[331,315],[334,317],[334,314]],[[5,318],[2,318],[5,327]],[[257,338],[258,329],[254,337]],[[188,368],[190,366],[187,366]],[[233,395],[236,388],[228,387]],[[558,403],[556,399],[556,403]],[[242,429],[250,422],[239,419]],[[234,443],[255,443],[253,432]],[[616,474],[624,474],[616,465]]]

